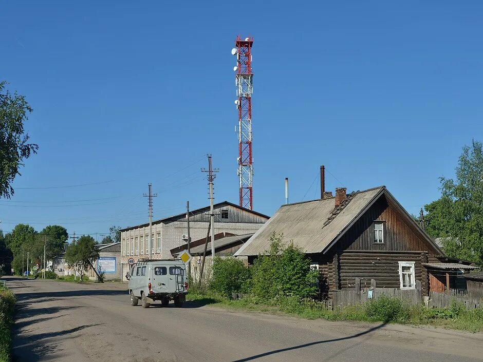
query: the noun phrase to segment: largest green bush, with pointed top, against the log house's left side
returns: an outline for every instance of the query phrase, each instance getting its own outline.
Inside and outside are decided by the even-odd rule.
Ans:
[[[270,237],[268,255],[258,255],[252,269],[251,292],[262,300],[283,296],[299,299],[312,296],[317,272],[310,270],[305,253],[290,243],[283,246],[283,235]]]

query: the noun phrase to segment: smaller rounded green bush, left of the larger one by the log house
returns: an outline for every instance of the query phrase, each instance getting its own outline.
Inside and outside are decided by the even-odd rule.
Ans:
[[[232,293],[248,292],[250,272],[242,260],[233,257],[215,257],[210,288],[229,297]]]

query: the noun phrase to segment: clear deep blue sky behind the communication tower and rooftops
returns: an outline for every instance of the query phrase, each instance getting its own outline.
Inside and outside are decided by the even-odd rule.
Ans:
[[[409,212],[483,139],[483,4],[0,1],[0,79],[33,107],[39,153],[0,227],[106,234],[238,202],[235,36],[253,36],[254,209],[386,185]],[[96,183],[96,184],[92,184]],[[78,187],[61,187],[84,185]],[[44,188],[57,187],[57,188]],[[80,206],[81,205],[81,206]]]

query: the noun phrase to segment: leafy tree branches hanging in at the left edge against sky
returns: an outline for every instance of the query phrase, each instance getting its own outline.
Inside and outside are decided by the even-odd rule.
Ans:
[[[12,182],[20,175],[24,160],[36,153],[39,146],[28,143],[24,130],[27,114],[32,111],[24,96],[5,90],[6,82],[0,82],[0,198],[10,198]]]

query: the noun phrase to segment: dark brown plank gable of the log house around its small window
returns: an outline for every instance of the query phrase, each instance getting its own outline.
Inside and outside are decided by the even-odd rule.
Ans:
[[[384,242],[375,243],[374,224],[382,221]],[[383,193],[342,235],[333,250],[419,251],[440,254],[419,227],[408,220],[397,201]]]

